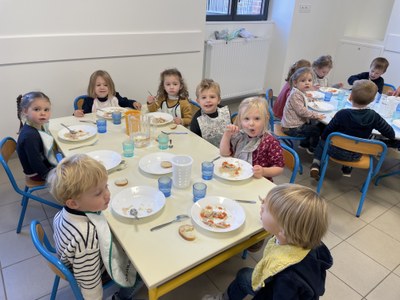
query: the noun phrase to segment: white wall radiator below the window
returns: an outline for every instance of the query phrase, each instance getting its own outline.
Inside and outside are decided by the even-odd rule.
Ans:
[[[268,39],[206,41],[204,78],[221,86],[223,100],[263,93]]]

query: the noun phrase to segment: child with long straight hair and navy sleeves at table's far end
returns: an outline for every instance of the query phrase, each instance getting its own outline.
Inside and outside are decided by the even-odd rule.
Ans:
[[[95,71],[90,76],[87,93],[88,97],[85,98],[82,109],[74,111],[75,117],[96,112],[98,108],[120,106],[140,110],[142,107],[140,102],[129,100],[117,93],[110,74],[103,70]]]

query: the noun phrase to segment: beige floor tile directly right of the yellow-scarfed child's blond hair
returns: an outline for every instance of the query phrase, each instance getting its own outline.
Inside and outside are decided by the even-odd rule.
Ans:
[[[360,220],[355,215],[345,211],[335,204],[328,204],[328,212],[330,218],[329,231],[341,239],[348,238],[367,225],[363,220]]]

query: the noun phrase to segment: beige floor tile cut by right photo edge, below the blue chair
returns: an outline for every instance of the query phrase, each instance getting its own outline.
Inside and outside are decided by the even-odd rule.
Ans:
[[[400,242],[371,225],[346,241],[389,270],[394,270],[400,264]]]

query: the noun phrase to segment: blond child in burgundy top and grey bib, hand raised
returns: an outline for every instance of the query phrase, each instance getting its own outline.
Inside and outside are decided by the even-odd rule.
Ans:
[[[235,124],[228,125],[220,143],[222,156],[233,156],[253,166],[255,178],[272,177],[283,172],[282,148],[267,132],[268,111],[262,97],[244,99],[238,108]]]

